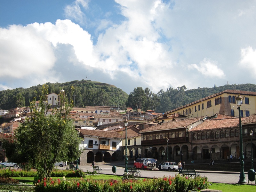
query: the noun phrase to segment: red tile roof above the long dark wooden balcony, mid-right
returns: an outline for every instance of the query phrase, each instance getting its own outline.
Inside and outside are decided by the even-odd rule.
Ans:
[[[164,130],[164,129],[173,129],[173,128],[182,128],[187,127],[190,124],[193,124],[197,121],[200,121],[202,117],[196,117],[196,118],[189,118],[189,119],[181,119],[181,120],[175,120],[170,121],[167,123],[157,124],[155,126],[148,127],[141,132],[151,132],[151,131],[157,131],[157,130]]]

